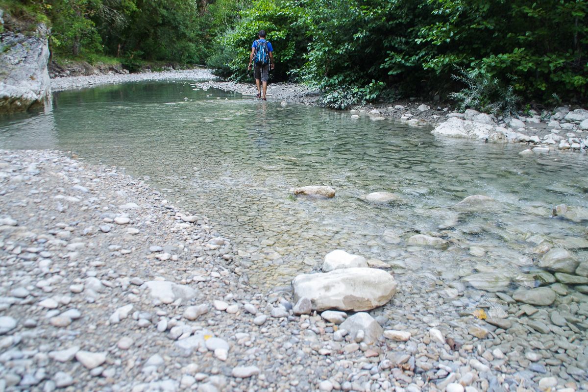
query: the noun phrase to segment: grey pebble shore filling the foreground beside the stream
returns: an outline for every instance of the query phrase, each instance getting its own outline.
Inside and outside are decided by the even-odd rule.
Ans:
[[[250,287],[201,212],[116,167],[1,151],[0,184],[0,391],[588,390],[588,264],[566,250],[545,250],[553,274],[515,293],[492,273],[407,280],[336,250],[322,267],[349,274],[336,284],[374,270],[386,285],[346,287],[339,306],[305,286],[317,274]]]

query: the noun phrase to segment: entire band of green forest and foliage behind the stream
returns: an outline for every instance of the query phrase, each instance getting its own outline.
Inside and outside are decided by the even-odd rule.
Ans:
[[[250,81],[264,29],[274,81],[322,89],[326,106],[418,96],[501,112],[586,103],[588,0],[0,0],[51,26],[54,59],[206,65]]]

